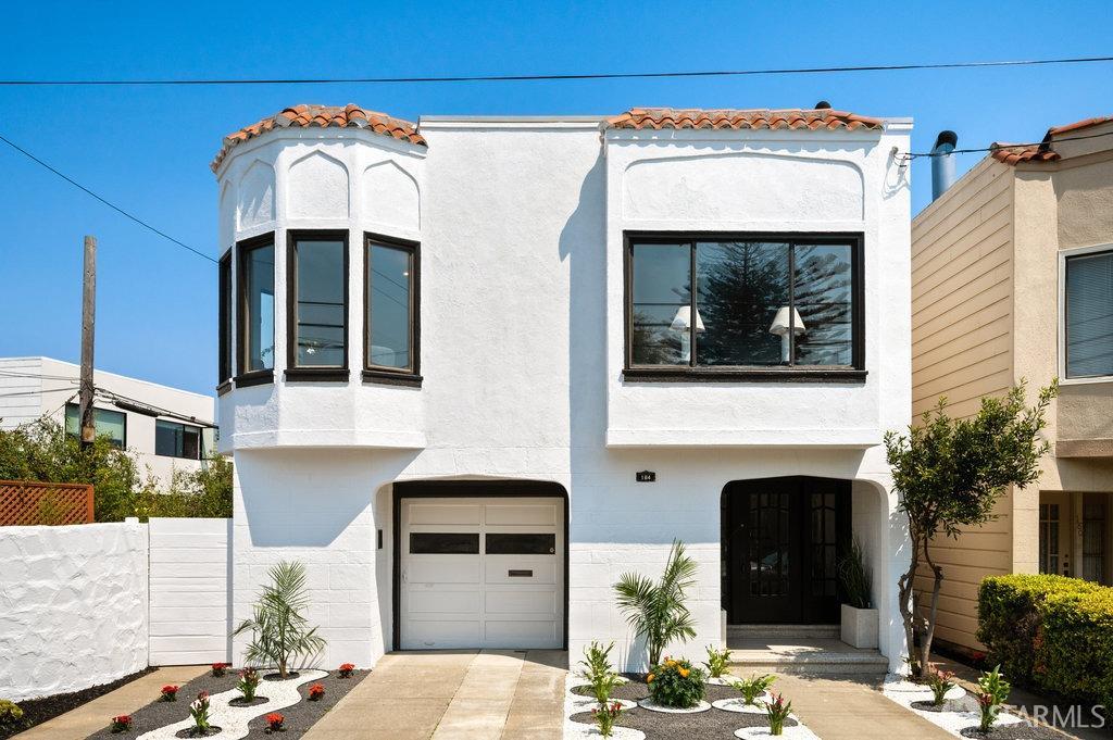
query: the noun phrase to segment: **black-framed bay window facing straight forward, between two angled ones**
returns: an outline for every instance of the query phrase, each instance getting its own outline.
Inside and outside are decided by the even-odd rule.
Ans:
[[[286,377],[346,381],[347,231],[289,231],[286,275]]]

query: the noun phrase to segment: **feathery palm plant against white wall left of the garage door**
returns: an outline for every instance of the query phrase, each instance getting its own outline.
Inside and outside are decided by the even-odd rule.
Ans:
[[[233,637],[252,633],[244,651],[248,663],[275,665],[278,677],[288,675],[289,664],[299,655],[313,655],[325,648],[325,639],[311,628],[302,612],[309,605],[305,592],[305,565],[279,562],[270,568],[270,584],[263,586],[252,619],[244,620]]]

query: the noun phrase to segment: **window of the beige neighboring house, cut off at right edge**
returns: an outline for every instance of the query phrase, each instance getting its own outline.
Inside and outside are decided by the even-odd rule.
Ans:
[[[1113,375],[1113,251],[1066,258],[1066,377]]]

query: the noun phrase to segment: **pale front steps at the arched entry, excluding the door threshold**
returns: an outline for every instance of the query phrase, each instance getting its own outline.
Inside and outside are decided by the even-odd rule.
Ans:
[[[741,638],[730,641],[730,672],[804,675],[869,674],[881,677],[889,661],[876,650],[859,650],[831,638]]]

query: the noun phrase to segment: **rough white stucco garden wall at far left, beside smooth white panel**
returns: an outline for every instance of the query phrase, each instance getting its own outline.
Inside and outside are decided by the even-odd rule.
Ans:
[[[147,526],[0,527],[0,697],[19,701],[147,667]]]

